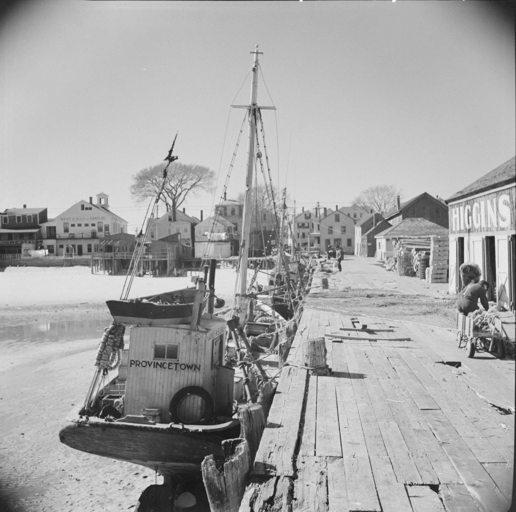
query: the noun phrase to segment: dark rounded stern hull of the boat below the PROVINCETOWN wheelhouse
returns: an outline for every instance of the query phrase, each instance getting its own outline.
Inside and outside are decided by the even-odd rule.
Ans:
[[[59,439],[75,450],[172,475],[199,471],[207,455],[223,461],[221,442],[238,437],[240,425],[238,420],[233,420],[208,429],[200,425],[186,427],[77,419],[61,429]]]

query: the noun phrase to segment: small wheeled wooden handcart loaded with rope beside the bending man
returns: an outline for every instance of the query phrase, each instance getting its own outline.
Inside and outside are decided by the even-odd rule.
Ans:
[[[457,311],[457,346],[465,347],[467,357],[473,357],[476,350],[496,352],[500,359],[505,357],[502,320],[494,319],[490,331],[477,331],[473,318],[464,316]],[[464,343],[464,344],[463,344]]]

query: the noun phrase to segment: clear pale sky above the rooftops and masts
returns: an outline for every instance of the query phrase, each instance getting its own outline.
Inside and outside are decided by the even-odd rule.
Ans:
[[[218,176],[250,99],[273,183],[301,211],[392,185],[446,199],[516,154],[512,4],[22,1],[0,18],[0,211],[49,218],[100,192],[141,227],[132,176],[174,154]],[[228,198],[243,190],[247,125]],[[240,156],[241,155],[241,156]],[[159,214],[165,213],[160,207]]]

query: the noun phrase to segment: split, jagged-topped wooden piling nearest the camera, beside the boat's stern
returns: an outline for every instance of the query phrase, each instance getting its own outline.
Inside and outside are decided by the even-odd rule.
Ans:
[[[245,439],[222,441],[225,455],[223,471],[215,466],[213,455],[204,457],[202,480],[211,512],[238,512],[251,469],[249,449]]]

